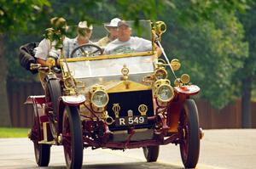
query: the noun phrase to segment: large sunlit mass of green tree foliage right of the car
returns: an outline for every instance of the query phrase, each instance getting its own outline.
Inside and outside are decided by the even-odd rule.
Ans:
[[[194,14],[191,3],[177,3],[177,8],[179,11],[169,13],[167,26],[172,34],[164,35],[166,51],[170,59],[182,61],[179,74],[189,73],[192,82],[201,87],[201,97],[223,108],[236,96],[239,88],[233,76],[248,54],[242,25],[234,12],[224,8],[212,9],[208,19],[205,13]]]

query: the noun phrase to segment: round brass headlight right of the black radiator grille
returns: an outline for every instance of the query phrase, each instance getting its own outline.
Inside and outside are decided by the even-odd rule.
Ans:
[[[168,102],[174,97],[173,88],[170,85],[160,85],[160,87],[157,88],[157,99],[159,99],[161,102]]]

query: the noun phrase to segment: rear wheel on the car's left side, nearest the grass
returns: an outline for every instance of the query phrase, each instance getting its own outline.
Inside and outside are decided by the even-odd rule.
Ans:
[[[40,138],[40,126],[38,121],[38,116],[34,117],[34,125],[36,131],[38,131],[38,139]],[[50,145],[49,144],[38,144],[38,139],[33,141],[34,153],[38,166],[48,166],[50,158]]]

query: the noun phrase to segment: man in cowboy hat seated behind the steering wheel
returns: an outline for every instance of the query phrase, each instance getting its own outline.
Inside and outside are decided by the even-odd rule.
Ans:
[[[66,56],[69,58],[70,54],[72,53],[74,48],[77,48],[84,44],[92,44],[90,41],[90,36],[92,33],[92,25],[88,25],[87,21],[80,21],[78,26],[78,36],[71,39],[69,42],[67,42],[67,46],[64,48]],[[76,57],[78,57],[79,51],[75,54]]]

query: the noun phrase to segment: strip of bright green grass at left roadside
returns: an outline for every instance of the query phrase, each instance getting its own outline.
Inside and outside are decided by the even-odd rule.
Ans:
[[[0,127],[0,138],[27,138],[29,128]]]

